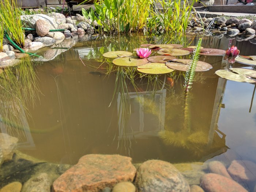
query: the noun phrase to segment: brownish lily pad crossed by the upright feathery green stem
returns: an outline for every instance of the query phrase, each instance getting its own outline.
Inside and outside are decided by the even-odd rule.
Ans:
[[[166,66],[172,69],[176,69],[179,71],[187,71],[188,65],[190,64],[191,60],[189,59],[176,59],[173,61],[166,62]],[[208,71],[212,68],[209,63],[198,61],[196,65],[196,72],[198,71]]]

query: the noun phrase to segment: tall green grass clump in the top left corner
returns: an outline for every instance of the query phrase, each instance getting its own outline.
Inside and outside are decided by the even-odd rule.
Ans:
[[[19,46],[24,45],[24,31],[20,20],[21,11],[16,0],[0,1],[2,26],[10,38]]]

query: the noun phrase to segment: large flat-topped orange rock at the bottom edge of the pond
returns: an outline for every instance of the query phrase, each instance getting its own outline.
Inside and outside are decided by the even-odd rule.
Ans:
[[[84,155],[79,162],[53,182],[55,192],[98,192],[118,182],[133,181],[136,169],[130,157],[121,155]]]

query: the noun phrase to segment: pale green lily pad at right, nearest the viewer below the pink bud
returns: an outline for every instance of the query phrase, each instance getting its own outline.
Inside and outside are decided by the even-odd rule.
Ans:
[[[231,71],[227,71],[224,69],[220,69],[220,70],[216,71],[215,74],[217,74],[221,78],[225,78],[225,79],[232,80],[232,81],[256,83],[255,80],[250,79],[245,75],[235,74]]]

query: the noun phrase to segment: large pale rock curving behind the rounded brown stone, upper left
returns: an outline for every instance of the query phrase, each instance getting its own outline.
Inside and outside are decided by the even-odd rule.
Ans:
[[[21,15],[20,19],[22,20],[22,23],[29,28],[35,28],[35,22],[38,19],[41,19],[48,23],[50,29],[58,29],[58,24],[56,23],[56,20],[44,14]]]

